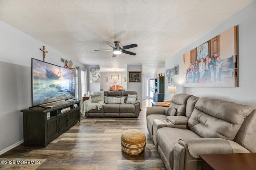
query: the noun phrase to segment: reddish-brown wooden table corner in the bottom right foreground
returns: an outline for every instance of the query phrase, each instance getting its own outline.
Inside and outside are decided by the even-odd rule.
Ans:
[[[202,170],[255,170],[256,153],[200,155]]]

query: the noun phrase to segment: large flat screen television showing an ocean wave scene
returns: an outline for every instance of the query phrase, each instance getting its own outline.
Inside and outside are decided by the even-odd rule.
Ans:
[[[75,97],[75,71],[31,59],[32,106]]]

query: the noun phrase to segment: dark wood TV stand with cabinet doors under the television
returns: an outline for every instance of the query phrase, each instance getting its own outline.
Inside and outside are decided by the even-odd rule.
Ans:
[[[77,105],[75,107],[74,105]],[[80,100],[67,100],[48,103],[44,107],[54,105],[53,108],[32,107],[21,110],[23,112],[24,146],[37,144],[46,147],[48,143],[60,136],[68,128],[80,122]],[[61,112],[62,109],[70,110]],[[50,117],[47,118],[47,113]]]

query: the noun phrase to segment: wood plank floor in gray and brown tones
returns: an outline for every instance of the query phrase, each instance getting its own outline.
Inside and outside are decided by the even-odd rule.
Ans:
[[[138,118],[84,118],[46,148],[21,144],[0,155],[1,161],[15,163],[0,164],[0,169],[165,170],[146,128],[149,106],[150,100],[143,99]],[[122,152],[120,144],[122,132],[132,128],[147,138],[144,151],[134,156]]]

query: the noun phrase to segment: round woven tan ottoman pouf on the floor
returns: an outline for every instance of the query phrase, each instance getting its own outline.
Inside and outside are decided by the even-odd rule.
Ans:
[[[121,144],[124,153],[138,155],[146,146],[146,136],[138,129],[124,130],[121,135]]]

